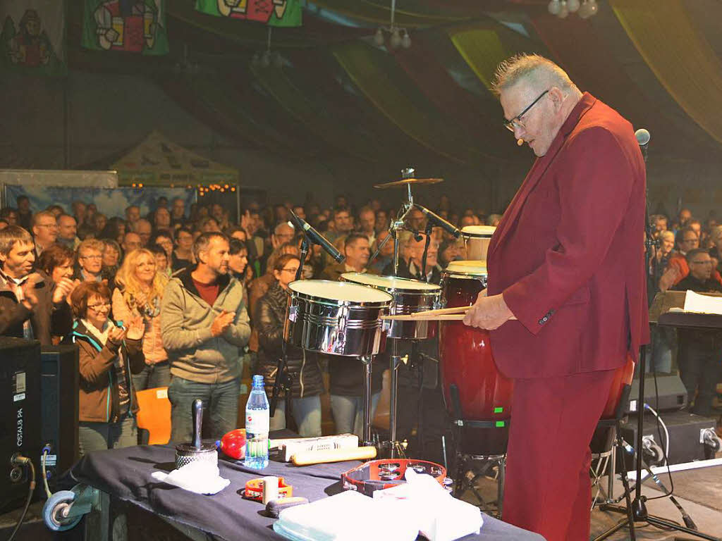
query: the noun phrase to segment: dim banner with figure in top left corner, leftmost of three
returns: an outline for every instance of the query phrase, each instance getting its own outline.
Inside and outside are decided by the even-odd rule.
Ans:
[[[1,69],[24,74],[65,75],[64,0],[0,2]]]

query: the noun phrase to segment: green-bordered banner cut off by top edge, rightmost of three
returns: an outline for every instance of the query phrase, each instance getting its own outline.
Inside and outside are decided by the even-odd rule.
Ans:
[[[274,27],[297,27],[303,22],[302,0],[196,0],[196,11]]]

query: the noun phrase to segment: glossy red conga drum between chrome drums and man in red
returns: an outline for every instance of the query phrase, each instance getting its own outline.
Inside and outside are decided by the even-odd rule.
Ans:
[[[486,287],[487,265],[482,260],[453,261],[442,273],[447,308],[471,306]],[[452,418],[464,421],[487,421],[490,428],[465,426],[462,451],[503,454],[508,441],[513,381],[497,369],[489,332],[467,327],[461,321],[441,321],[439,337],[439,368],[448,412]]]

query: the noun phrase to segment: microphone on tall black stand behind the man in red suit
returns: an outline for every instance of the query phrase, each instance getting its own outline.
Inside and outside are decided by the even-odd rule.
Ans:
[[[649,141],[645,144],[640,144],[643,151],[643,157],[645,164],[647,162],[647,153],[646,153],[646,146]],[[644,264],[644,272],[647,276],[647,287],[648,287],[648,293],[650,292],[649,286],[651,281],[649,280],[649,267],[651,263],[651,257],[652,257],[652,247],[655,245],[655,239],[654,234],[652,230],[652,225],[649,223],[649,194],[648,190],[645,190],[645,225],[644,225],[644,233],[645,233],[645,264]],[[656,255],[654,256],[656,259]],[[653,289],[652,289],[653,292]],[[651,348],[651,351],[653,352],[653,347]],[[684,527],[680,524],[677,524],[677,522],[672,522],[670,520],[662,519],[658,516],[653,516],[648,513],[647,511],[647,497],[642,496],[642,449],[643,449],[643,438],[642,438],[642,432],[644,430],[644,410],[645,410],[645,397],[644,397],[644,373],[645,373],[645,365],[646,365],[646,356],[647,356],[647,346],[646,344],[644,346],[641,346],[640,348],[640,359],[639,359],[639,395],[637,400],[637,434],[636,434],[636,441],[635,441],[635,472],[636,472],[636,484],[635,484],[635,497],[632,500],[632,509],[627,509],[624,506],[612,506],[612,505],[601,505],[600,509],[602,511],[614,511],[617,513],[626,514],[626,518],[622,519],[621,521],[617,522],[613,527],[606,530],[603,534],[601,534],[599,537],[596,537],[594,541],[601,541],[609,537],[610,535],[613,535],[615,532],[619,531],[619,529],[622,529],[624,527],[629,527],[630,529],[630,539],[633,541],[636,539],[635,536],[635,522],[646,522],[648,524],[651,524],[653,526],[662,528],[662,529],[673,529],[677,530],[677,532],[684,532],[689,535],[694,535],[695,537],[701,537],[702,539],[706,539],[709,541],[721,541],[719,537],[713,537],[711,535],[704,534],[702,532],[697,532],[696,529]],[[625,473],[626,475],[626,473]]]

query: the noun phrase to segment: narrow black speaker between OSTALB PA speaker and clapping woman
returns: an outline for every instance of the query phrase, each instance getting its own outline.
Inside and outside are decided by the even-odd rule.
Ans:
[[[40,352],[42,436],[45,475],[51,492],[55,480],[78,459],[78,346],[44,347]],[[45,493],[38,486],[40,493]]]

